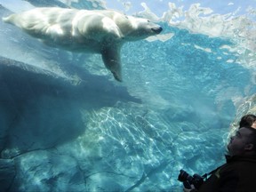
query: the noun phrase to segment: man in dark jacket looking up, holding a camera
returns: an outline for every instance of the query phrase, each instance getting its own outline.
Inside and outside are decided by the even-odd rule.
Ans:
[[[253,122],[254,123],[254,122]],[[240,127],[228,143],[227,163],[209,174],[197,189],[184,192],[255,192],[256,191],[256,129]]]

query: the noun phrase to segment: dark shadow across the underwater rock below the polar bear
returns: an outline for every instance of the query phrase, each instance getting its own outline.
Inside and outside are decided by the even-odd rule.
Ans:
[[[61,75],[60,75],[61,74]],[[0,57],[0,147],[2,157],[53,148],[86,129],[83,110],[140,102],[103,76],[55,73]]]

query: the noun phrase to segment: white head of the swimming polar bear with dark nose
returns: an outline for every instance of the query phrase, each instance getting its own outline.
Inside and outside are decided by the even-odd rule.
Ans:
[[[163,28],[149,20],[116,14],[112,18],[123,34],[125,41],[137,41],[159,34]]]

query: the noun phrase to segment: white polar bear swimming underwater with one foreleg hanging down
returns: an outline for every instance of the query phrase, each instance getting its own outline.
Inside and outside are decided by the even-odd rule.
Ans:
[[[149,20],[112,10],[35,8],[3,18],[45,44],[77,52],[100,53],[117,81],[122,81],[120,49],[125,42],[159,34]]]

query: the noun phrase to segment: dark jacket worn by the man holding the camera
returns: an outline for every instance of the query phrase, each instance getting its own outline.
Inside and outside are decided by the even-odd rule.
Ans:
[[[198,192],[255,192],[256,156],[226,156],[227,163],[212,172]]]

